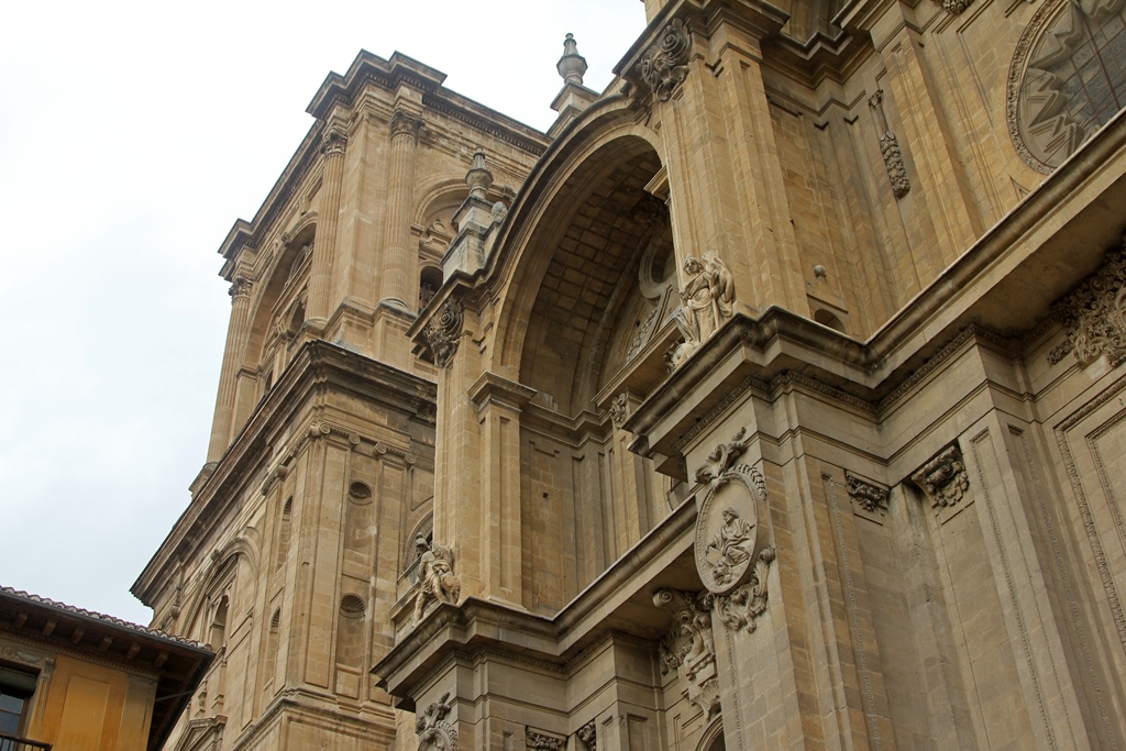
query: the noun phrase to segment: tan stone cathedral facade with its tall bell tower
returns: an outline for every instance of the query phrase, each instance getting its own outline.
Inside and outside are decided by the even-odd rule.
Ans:
[[[645,5],[546,136],[318,92],[135,585],[182,728],[1126,748],[1123,3]]]

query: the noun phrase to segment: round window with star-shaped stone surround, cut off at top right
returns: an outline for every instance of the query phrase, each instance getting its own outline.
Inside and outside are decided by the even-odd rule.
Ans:
[[[1009,70],[1009,134],[1021,158],[1051,173],[1124,104],[1126,6],[1045,2]]]

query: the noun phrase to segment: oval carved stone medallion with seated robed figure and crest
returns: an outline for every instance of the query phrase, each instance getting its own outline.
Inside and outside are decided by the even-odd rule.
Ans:
[[[759,504],[766,482],[758,468],[735,465],[749,441],[744,430],[708,455],[696,480],[708,484],[696,520],[696,570],[714,594],[727,594],[747,582],[756,556],[766,546],[759,534]]]

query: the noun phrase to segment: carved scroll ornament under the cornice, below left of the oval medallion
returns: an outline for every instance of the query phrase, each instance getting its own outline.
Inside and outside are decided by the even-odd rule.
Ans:
[[[683,680],[685,698],[707,719],[720,714],[720,680],[712,634],[711,598],[707,594],[660,589],[653,594],[658,607],[671,608],[672,629],[661,640],[661,672],[677,670]]]

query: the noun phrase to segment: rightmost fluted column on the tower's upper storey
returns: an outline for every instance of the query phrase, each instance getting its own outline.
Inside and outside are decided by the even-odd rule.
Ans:
[[[386,242],[383,256],[381,302],[414,310],[411,205],[414,198],[414,149],[422,120],[403,109],[391,117],[391,173],[387,176]],[[417,256],[417,251],[413,253]],[[413,262],[412,262],[413,260]],[[410,304],[408,301],[412,301]]]

